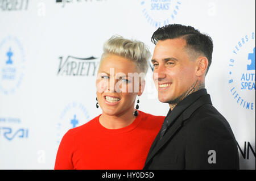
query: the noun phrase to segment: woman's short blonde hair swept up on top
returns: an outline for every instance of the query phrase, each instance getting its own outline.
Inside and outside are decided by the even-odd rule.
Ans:
[[[148,59],[151,54],[146,45],[138,40],[124,39],[122,36],[112,36],[107,40],[103,47],[101,61],[108,54],[116,54],[134,61],[137,69],[143,73],[147,73]]]

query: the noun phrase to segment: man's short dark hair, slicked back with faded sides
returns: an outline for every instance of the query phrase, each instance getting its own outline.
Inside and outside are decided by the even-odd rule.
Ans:
[[[206,34],[200,33],[199,30],[191,26],[184,26],[181,24],[168,24],[156,30],[151,41],[156,45],[159,40],[175,39],[182,37],[187,42],[187,48],[195,50],[197,53],[203,53],[208,59],[208,67],[212,63],[212,38]],[[206,73],[207,73],[206,72]]]

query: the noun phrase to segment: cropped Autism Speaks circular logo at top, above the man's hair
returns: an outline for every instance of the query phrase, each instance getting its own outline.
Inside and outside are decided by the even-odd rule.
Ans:
[[[156,28],[171,24],[180,10],[181,0],[141,1],[142,13],[147,22]]]

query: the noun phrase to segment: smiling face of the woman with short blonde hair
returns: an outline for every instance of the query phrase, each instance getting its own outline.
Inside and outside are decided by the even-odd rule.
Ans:
[[[134,110],[136,95],[142,94],[141,80],[135,81],[134,73],[135,63],[124,57],[108,54],[101,61],[96,87],[102,112],[120,115]]]

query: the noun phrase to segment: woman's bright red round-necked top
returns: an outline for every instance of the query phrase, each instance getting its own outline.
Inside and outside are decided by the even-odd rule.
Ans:
[[[60,142],[55,169],[143,169],[164,116],[138,112],[133,123],[125,128],[107,129],[97,116],[70,129]]]

